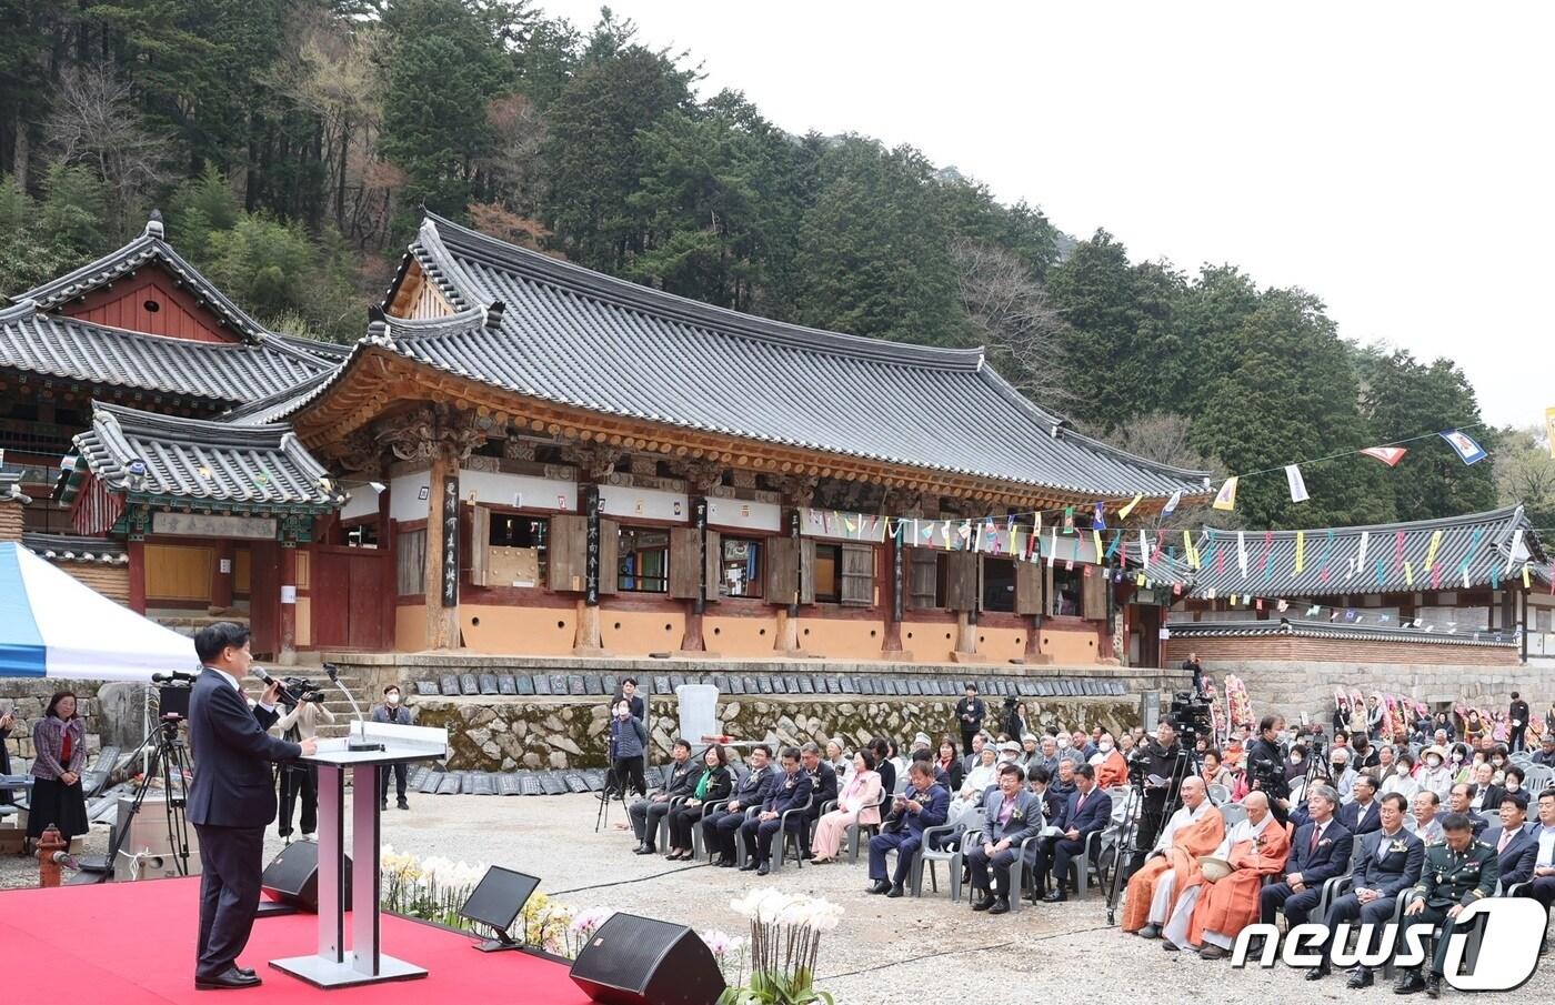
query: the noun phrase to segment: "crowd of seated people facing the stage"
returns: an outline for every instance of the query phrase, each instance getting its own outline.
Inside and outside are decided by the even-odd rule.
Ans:
[[[1169,801],[1146,786],[1143,846],[1132,862],[1113,854],[1127,877],[1124,932],[1216,960],[1255,923],[1319,923],[1333,938],[1339,924],[1395,916],[1451,929],[1454,905],[1483,896],[1529,896],[1546,910],[1555,901],[1555,736],[1511,753],[1490,734],[1473,747],[1440,728],[1412,744],[1364,733],[1330,739],[1267,716],[1224,741],[1197,741],[1197,773]],[[757,744],[736,772],[723,747],[694,756],[676,741],[666,784],[628,817],[641,854],[656,851],[666,818],[670,859],[694,857],[700,828],[714,865],[762,876],[774,842],[816,865],[843,860],[844,849],[854,859],[868,853],[868,891],[886,898],[905,896],[925,843],[959,849],[972,910],[1003,915],[1012,898],[1068,899],[1076,863],[1081,882],[1087,868],[1099,871],[1095,839],[1121,823],[1127,800],[1116,797],[1129,790],[1130,753],[1154,769],[1179,750],[1169,722],[1151,736],[978,731],[966,747],[928,733],[905,751],[886,737],[857,750],[837,737],[778,751]],[[1260,758],[1278,759],[1278,792],[1263,790],[1252,769]],[[1025,887],[1015,888],[1017,876]],[[1381,929],[1367,938],[1375,943]],[[1438,952],[1404,969],[1395,989],[1437,994],[1441,966]],[[1308,972],[1328,975],[1326,963]],[[1350,971],[1351,988],[1373,982],[1367,966]]]

